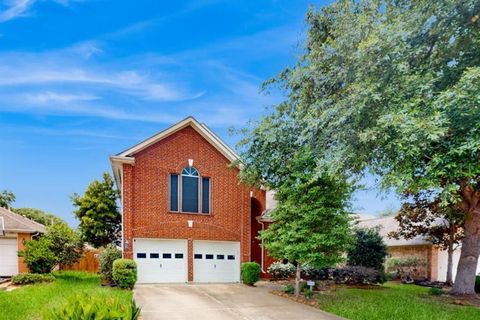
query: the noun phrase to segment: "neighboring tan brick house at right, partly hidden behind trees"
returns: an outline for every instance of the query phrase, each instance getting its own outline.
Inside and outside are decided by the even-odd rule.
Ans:
[[[359,225],[362,227],[380,228],[380,235],[382,235],[385,243],[387,244],[388,252],[391,257],[415,257],[422,261],[423,265],[417,268],[417,277],[428,278],[432,281],[446,281],[448,262],[448,254],[446,250],[441,250],[420,236],[410,240],[395,240],[389,238],[387,236],[389,232],[398,230],[398,222],[393,216],[384,218],[371,218],[366,215],[359,215],[358,220]],[[454,280],[457,273],[459,258],[460,248],[456,249],[453,254],[452,271]],[[477,274],[480,274],[480,264],[477,266]]]

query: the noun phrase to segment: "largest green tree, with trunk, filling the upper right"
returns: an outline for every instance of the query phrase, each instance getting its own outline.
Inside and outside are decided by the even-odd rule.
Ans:
[[[287,95],[273,119],[295,128],[287,148],[463,211],[454,294],[474,293],[480,254],[479,15],[477,0],[339,0],[308,12],[303,56],[272,81]]]

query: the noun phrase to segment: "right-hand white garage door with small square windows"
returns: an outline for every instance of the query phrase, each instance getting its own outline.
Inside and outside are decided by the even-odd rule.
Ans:
[[[240,242],[193,241],[193,281],[240,282]]]

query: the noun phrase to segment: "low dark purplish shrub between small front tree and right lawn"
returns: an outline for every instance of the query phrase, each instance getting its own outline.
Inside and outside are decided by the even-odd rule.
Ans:
[[[329,270],[329,278],[335,283],[375,284],[381,283],[381,275],[375,269],[365,267],[343,267]]]

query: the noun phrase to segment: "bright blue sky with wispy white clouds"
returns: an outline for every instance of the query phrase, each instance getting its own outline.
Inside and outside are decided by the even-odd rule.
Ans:
[[[230,145],[279,101],[323,1],[0,0],[0,190],[75,225],[70,196],[108,156],[193,115]],[[367,179],[354,209],[396,208]]]

